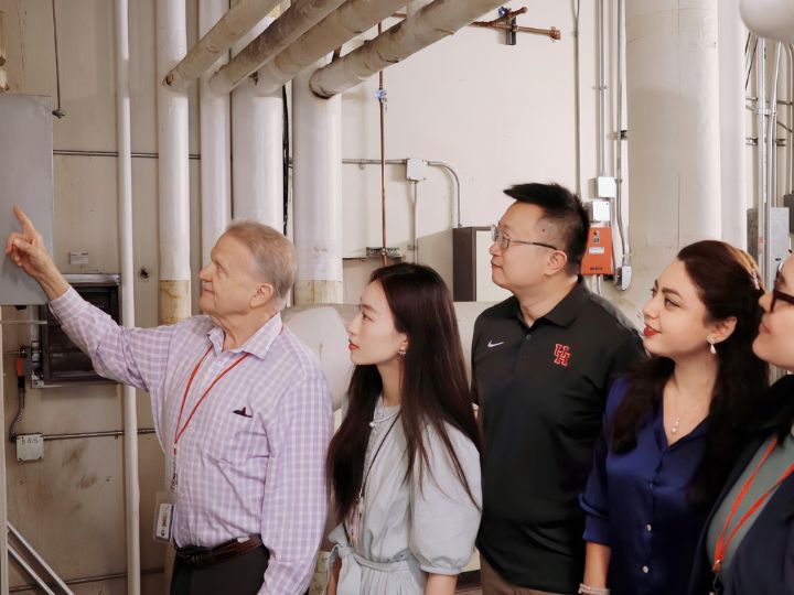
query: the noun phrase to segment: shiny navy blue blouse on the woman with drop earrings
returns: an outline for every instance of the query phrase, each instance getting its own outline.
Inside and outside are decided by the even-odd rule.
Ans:
[[[610,426],[627,383],[615,382],[607,401]],[[615,453],[603,435],[580,502],[584,540],[611,548],[608,586],[613,595],[686,593],[698,537],[708,510],[695,510],[687,488],[706,446],[706,421],[673,446],[659,404],[637,430],[636,447]]]

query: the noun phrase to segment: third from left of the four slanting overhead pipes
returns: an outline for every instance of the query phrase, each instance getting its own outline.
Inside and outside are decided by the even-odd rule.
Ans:
[[[336,47],[388,18],[405,0],[347,0],[257,72],[257,87],[276,91]]]

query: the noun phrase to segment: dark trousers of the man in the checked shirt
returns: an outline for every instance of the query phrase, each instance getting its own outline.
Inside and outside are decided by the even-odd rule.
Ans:
[[[176,556],[171,595],[256,595],[267,564],[265,548],[206,567],[195,567]]]

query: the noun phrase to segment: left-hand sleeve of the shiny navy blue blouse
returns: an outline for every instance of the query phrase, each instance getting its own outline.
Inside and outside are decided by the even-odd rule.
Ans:
[[[623,400],[626,382],[619,380],[612,386],[607,400],[604,413],[604,431],[596,443],[593,451],[593,468],[588,478],[584,493],[579,496],[579,504],[584,511],[584,541],[610,544],[610,516],[609,516],[609,479],[607,476],[607,433],[618,405]]]

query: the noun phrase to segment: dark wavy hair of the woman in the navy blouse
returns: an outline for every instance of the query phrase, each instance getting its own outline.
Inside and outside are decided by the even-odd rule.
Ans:
[[[717,380],[709,409],[706,451],[689,486],[689,500],[710,506],[744,446],[744,428],[753,400],[769,386],[769,365],[752,351],[763,294],[760,273],[750,255],[723,241],[704,240],[678,252],[678,260],[697,286],[709,321],[734,316],[733,333],[715,345]],[[616,452],[636,446],[636,432],[653,416],[674,364],[651,357],[629,374],[629,389],[612,421],[611,444]]]

